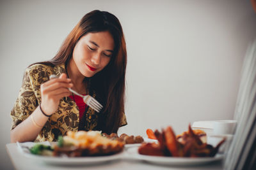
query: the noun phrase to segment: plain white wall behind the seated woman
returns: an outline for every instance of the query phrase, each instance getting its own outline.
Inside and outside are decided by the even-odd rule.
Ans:
[[[11,168],[10,111],[24,69],[51,59],[89,11],[118,17],[127,42],[128,125],[140,134],[233,118],[246,46],[256,37],[250,1],[1,1],[1,167]]]

